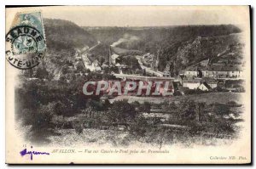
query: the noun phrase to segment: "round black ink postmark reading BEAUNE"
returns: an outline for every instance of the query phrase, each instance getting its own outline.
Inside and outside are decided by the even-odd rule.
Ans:
[[[18,25],[5,36],[6,59],[20,70],[32,69],[44,58],[44,36],[35,27]]]

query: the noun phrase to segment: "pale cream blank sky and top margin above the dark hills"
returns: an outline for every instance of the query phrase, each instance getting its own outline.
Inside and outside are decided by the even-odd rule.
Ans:
[[[80,26],[242,25],[247,7],[236,6],[61,6],[40,9],[44,18]]]

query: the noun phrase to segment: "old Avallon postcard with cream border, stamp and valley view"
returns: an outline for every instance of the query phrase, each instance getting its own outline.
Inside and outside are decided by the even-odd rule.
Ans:
[[[6,163],[251,163],[249,6],[6,7]]]

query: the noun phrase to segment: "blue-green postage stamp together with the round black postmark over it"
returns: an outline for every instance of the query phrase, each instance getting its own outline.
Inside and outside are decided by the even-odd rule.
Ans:
[[[16,14],[5,42],[5,54],[10,65],[21,70],[39,65],[46,51],[41,12]]]

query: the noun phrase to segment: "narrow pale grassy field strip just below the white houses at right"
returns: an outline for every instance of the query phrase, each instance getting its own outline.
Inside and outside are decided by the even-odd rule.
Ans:
[[[159,104],[164,101],[174,101],[179,102],[181,99],[193,99],[195,102],[206,102],[207,104],[212,104],[215,102],[218,103],[227,103],[230,101],[236,101],[237,104],[242,104],[241,98],[244,95],[244,93],[201,93],[201,94],[191,94],[191,95],[185,95],[185,96],[172,96],[169,98],[165,97],[135,97],[135,96],[118,96],[117,98],[112,99],[114,100],[122,100],[122,99],[128,99],[129,102],[138,101],[140,103],[143,102],[152,102],[155,104]]]

